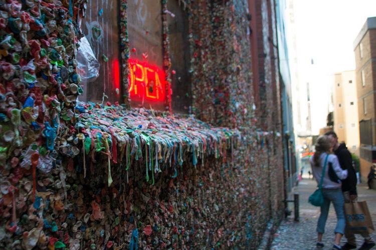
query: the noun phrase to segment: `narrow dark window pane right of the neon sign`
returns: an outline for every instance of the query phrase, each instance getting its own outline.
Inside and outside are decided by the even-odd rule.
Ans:
[[[168,0],[167,14],[169,56],[171,69],[175,74],[172,78],[172,109],[175,112],[190,112],[191,109],[191,82],[190,68],[190,43],[188,39],[189,23],[187,10],[180,0]]]

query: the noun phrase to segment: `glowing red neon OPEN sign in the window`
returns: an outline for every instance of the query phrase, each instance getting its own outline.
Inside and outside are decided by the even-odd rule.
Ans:
[[[163,70],[147,62],[128,60],[128,92],[132,101],[163,102],[166,99],[166,82]]]

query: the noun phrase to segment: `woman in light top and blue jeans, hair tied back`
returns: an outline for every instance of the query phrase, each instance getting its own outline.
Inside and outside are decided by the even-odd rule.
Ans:
[[[337,225],[335,227],[335,240],[332,249],[341,249],[340,241],[345,228],[345,216],[343,210],[344,197],[341,190],[340,181],[332,181],[328,174],[329,166],[332,167],[339,179],[347,177],[347,170],[343,170],[339,165],[338,158],[335,154],[330,154],[330,139],[326,136],[320,136],[315,144],[315,153],[310,158],[312,174],[319,183],[325,164],[324,177],[322,182],[322,194],[324,204],[321,206],[320,217],[317,221],[317,247],[323,247],[322,234],[325,232],[325,223],[328,218],[330,202],[333,203],[337,215]],[[332,179],[335,179],[332,177]]]

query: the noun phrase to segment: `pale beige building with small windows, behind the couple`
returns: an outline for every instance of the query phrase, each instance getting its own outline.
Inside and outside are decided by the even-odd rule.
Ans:
[[[356,96],[355,70],[343,71],[334,75],[333,86],[334,131],[339,142],[359,154],[359,120]]]

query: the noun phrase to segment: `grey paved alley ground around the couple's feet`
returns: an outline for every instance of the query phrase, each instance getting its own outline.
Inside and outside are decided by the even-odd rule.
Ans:
[[[320,208],[308,203],[308,196],[314,191],[316,185],[316,181],[306,178],[299,182],[299,185],[295,188],[295,192],[299,193],[300,221],[294,221],[294,212],[292,212],[292,215],[289,216],[287,220],[282,221],[278,231],[274,235],[271,249],[316,249],[316,224],[318,216],[320,215]],[[357,190],[359,200],[367,201],[368,209],[376,228],[376,190],[366,189],[366,184],[363,183],[357,186]],[[289,206],[289,209],[293,209],[292,205]],[[325,234],[323,236],[323,242],[325,244],[323,249],[331,249],[334,239],[333,231],[335,224],[335,211],[331,204],[329,217],[326,221]],[[373,232],[371,236],[376,240],[375,232]],[[357,247],[360,247],[363,243],[363,239],[360,235],[357,235],[356,238]],[[343,237],[341,244],[344,244],[345,241],[346,239]],[[374,249],[376,248],[374,247]]]

